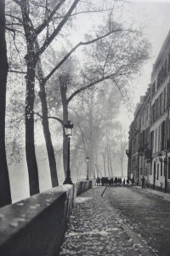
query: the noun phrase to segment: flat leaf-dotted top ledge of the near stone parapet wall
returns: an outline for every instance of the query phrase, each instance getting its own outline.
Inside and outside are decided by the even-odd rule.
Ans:
[[[25,200],[0,208],[0,245],[14,235],[33,218],[50,207],[60,197],[72,195],[72,185],[61,185],[48,189],[37,195],[32,195]]]

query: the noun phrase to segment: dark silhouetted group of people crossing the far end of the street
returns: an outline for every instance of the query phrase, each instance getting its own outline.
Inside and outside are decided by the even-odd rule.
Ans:
[[[96,179],[96,183],[97,186],[98,185],[102,185],[102,186],[106,186],[106,185],[127,185],[129,184],[129,178],[127,178],[127,180],[125,180],[125,178],[122,180],[122,177],[115,177],[115,179],[113,177],[109,178],[109,177],[97,177]]]

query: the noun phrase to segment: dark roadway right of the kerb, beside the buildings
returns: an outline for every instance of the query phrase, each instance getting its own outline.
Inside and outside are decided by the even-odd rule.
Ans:
[[[169,194],[152,189],[108,188],[105,201],[159,256],[170,255]]]

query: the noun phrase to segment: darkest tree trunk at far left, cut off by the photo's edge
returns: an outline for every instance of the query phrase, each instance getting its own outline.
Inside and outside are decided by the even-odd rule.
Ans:
[[[5,40],[5,1],[0,1],[0,207],[11,203],[8,166],[5,151],[5,108],[8,74],[7,48]]]

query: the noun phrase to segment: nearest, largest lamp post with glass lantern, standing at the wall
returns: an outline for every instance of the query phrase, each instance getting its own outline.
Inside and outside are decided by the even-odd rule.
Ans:
[[[63,184],[72,184],[71,181],[71,169],[70,169],[70,139],[72,136],[72,128],[74,125],[71,125],[71,121],[65,125],[65,135],[68,137],[68,155],[67,155],[67,171],[65,182]]]

